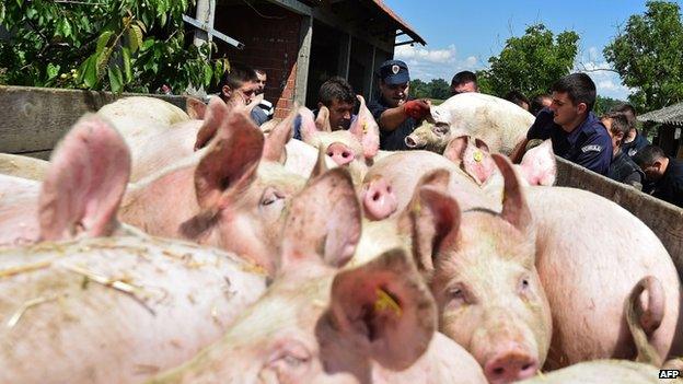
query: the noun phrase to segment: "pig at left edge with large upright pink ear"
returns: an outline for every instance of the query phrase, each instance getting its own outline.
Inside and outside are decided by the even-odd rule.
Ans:
[[[53,151],[42,184],[0,177],[0,244],[124,231],[115,217],[129,175],[124,139],[100,116],[84,115]]]

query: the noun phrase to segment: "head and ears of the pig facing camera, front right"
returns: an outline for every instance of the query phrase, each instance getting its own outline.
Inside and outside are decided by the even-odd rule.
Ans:
[[[440,329],[474,356],[489,383],[510,383],[543,365],[553,325],[520,178],[507,158],[493,159],[505,178],[500,213],[462,210],[450,196],[422,188],[427,203],[419,207],[439,225],[417,226],[425,249],[417,261],[437,301]]]

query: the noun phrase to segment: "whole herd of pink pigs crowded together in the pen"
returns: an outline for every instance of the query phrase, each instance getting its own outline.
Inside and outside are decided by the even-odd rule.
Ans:
[[[533,116],[455,95],[379,150],[297,107],[120,98],[0,156],[1,383],[660,383],[681,281],[640,220],[553,186]],[[301,116],[302,141],[292,139]]]

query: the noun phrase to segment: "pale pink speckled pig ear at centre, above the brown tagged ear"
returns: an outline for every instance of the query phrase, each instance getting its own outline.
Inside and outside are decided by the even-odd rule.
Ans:
[[[297,268],[301,259],[322,257],[342,267],[360,240],[360,205],[351,176],[334,168],[311,183],[292,199],[285,224],[282,269]]]

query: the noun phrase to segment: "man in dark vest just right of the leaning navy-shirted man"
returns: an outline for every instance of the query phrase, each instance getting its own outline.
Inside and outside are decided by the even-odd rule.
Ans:
[[[621,113],[610,113],[602,116],[601,121],[612,138],[613,154],[607,177],[630,185],[636,189],[643,189],[645,174],[622,150],[622,142],[628,135],[628,118]]]

